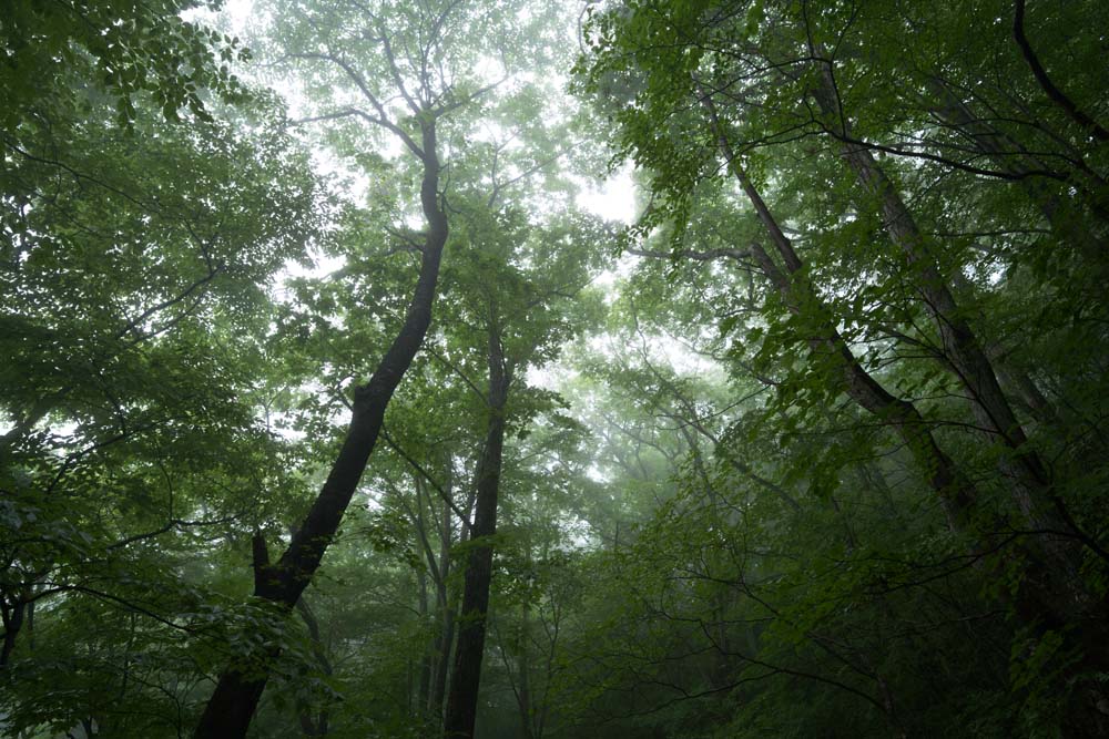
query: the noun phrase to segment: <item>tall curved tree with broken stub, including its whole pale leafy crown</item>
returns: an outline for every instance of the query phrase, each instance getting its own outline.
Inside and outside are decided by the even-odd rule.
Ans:
[[[413,234],[407,225],[411,218],[407,209],[410,199],[401,201],[396,215],[403,224],[387,226],[386,233],[379,235],[384,240],[391,232],[414,243],[420,253],[419,277],[405,320],[370,379],[355,388],[349,430],[316,502],[278,561],[256,564],[255,596],[286,609],[293,607],[318,568],[377,441],[386,406],[430,325],[449,230],[445,186],[440,184],[448,162],[441,155],[440,130],[448,121],[454,122],[454,126],[446,126],[442,141],[464,143],[464,136],[480,120],[475,110],[511,79],[513,65],[530,49],[526,44],[513,49],[511,44],[523,35],[529,22],[535,22],[528,20],[528,14],[516,13],[513,6],[487,8],[457,2],[418,8],[390,2],[375,7],[356,2],[305,3],[287,18],[289,23],[282,32],[284,59],[302,65],[309,83],[327,81],[336,90],[349,92],[347,97],[329,96],[323,103],[324,110],[303,123],[369,124],[372,130],[398,140],[416,162],[419,213],[426,227]],[[541,13],[537,18],[541,19]],[[500,32],[496,58],[484,55],[476,42],[490,28]],[[362,134],[345,130],[339,135],[347,136],[343,147],[350,152]],[[375,161],[365,151],[357,154],[364,162]],[[499,182],[494,170],[495,188]],[[490,339],[490,347],[499,340]],[[499,360],[495,363],[500,366]],[[494,396],[501,392],[503,389],[492,390]],[[490,438],[498,435],[495,430],[490,433]],[[496,445],[489,453],[496,454]],[[496,460],[490,464],[499,466]],[[494,485],[496,474],[488,473]],[[484,505],[485,520],[489,520],[488,507]],[[218,731],[231,732],[218,736],[242,736],[264,687],[264,678],[247,677],[234,667],[226,670],[205,709],[197,736],[216,736]]]

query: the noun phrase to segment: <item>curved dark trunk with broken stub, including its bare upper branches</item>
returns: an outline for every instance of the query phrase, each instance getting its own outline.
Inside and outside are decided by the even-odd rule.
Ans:
[[[403,66],[398,65],[398,59],[393,52],[393,47],[396,44],[393,31],[385,31],[383,38],[378,40],[383,53],[374,62],[385,65],[381,70],[385,79],[389,80],[389,84],[395,85],[396,91],[404,96],[407,105],[406,115],[413,116],[411,120],[418,131],[415,137],[395,120],[394,112],[386,110],[381,94],[375,90],[376,84],[367,82],[365,73],[344,55],[329,51],[294,52],[295,57],[305,61],[319,62],[328,69],[339,70],[345,75],[346,82],[352,83],[360,93],[359,104],[368,106],[368,110],[353,107],[328,115],[365,119],[368,123],[395,134],[418,160],[421,170],[419,204],[427,230],[423,244],[418,247],[421,253],[419,275],[413,288],[411,301],[404,322],[369,380],[355,389],[350,425],[319,495],[276,562],[269,562],[264,545],[257,550],[254,563],[254,596],[284,609],[292,609],[296,605],[319,567],[377,443],[385,419],[385,409],[416,357],[431,322],[431,306],[439,278],[439,264],[449,233],[439,186],[441,164],[437,129],[439,119],[465,103],[454,97],[445,99],[449,93],[449,83],[441,76],[434,82],[427,72],[431,63],[433,49],[439,53],[442,41],[440,27],[448,19],[449,10],[448,7],[434,13],[420,12],[415,18],[406,19],[413,22],[413,25],[400,33],[415,34],[417,31],[424,31],[428,32],[429,38],[426,47],[417,45],[411,57],[401,58],[399,63]],[[370,16],[367,20],[374,20],[374,17]],[[405,43],[415,43],[415,39],[408,37]],[[408,92],[408,86],[413,82],[410,79],[406,82],[401,69],[405,72],[423,70],[416,83],[418,85],[416,92]],[[265,675],[251,676],[236,667],[227,668],[220,676],[195,736],[245,736],[265,685]]]

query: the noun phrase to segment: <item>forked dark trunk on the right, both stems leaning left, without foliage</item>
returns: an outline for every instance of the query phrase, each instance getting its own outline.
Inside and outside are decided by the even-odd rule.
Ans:
[[[700,84],[698,91],[709,111],[721,152],[766,227],[786,265],[788,277],[777,269],[757,244],[752,246],[752,254],[771,281],[782,291],[794,312],[801,312],[806,308],[823,314],[820,298],[808,286],[803,265],[793,252],[792,243],[785,237],[731,152],[712,99]],[[822,99],[821,104],[826,107],[825,112],[831,112],[833,117],[842,122],[844,119],[837,106],[827,110],[831,105],[837,105],[834,92],[831,70],[825,68],[818,95]],[[1098,731],[1107,723],[1106,716],[1100,715],[1105,714],[1101,707],[1107,702],[1105,690],[1086,679],[1081,673],[1089,669],[1103,671],[1109,666],[1109,629],[1102,605],[1086,593],[1081,581],[1077,577],[1074,568],[1076,547],[1072,544],[1075,538],[1081,538],[1083,544],[1102,557],[1103,551],[1070,520],[1061,501],[1050,487],[1050,480],[1042,463],[1034,451],[1028,450],[1027,439],[1000,391],[993,367],[966,319],[959,312],[949,288],[940,278],[927,253],[927,245],[916,229],[904,203],[901,202],[885,174],[877,167],[869,151],[847,143],[847,138],[846,132],[840,137],[842,154],[872,197],[878,201],[892,239],[906,253],[910,265],[918,269],[920,276],[918,288],[937,324],[952,369],[971,394],[979,424],[1009,447],[1010,455],[1005,462],[1003,473],[1016,482],[1013,492],[1018,507],[1034,528],[1041,526],[1048,531],[1070,528],[1065,536],[1047,535],[1039,537],[1039,542],[1016,542],[1009,545],[1015,552],[1003,553],[1003,562],[1019,567],[1021,581],[1014,606],[1020,622],[1029,626],[1036,636],[1042,636],[1051,630],[1065,632],[1068,646],[1076,648],[1082,655],[1081,664],[1068,669],[1070,675],[1078,678],[1079,686],[1076,688],[1075,702],[1071,705],[1074,711],[1081,715],[1076,722],[1078,728],[1075,729],[1075,736],[1101,736]],[[1005,546],[1005,541],[991,545],[991,540],[996,538],[998,532],[1004,531],[1004,527],[997,525],[1001,522],[994,520],[984,511],[985,522],[975,525],[973,509],[977,507],[978,500],[975,486],[959,474],[950,459],[939,449],[913,404],[893,398],[866,373],[835,331],[835,325],[830,322],[826,316],[821,316],[818,322],[825,328],[821,336],[810,341],[810,345],[814,351],[823,346],[828,353],[840,355],[848,396],[866,410],[891,422],[905,440],[917,463],[923,469],[929,470],[929,482],[945,501],[948,521],[954,520],[954,523],[964,527],[971,535],[975,546],[981,547],[983,552]],[[1032,494],[1036,494],[1035,499]],[[956,515],[953,516],[953,513]],[[1074,627],[1077,628],[1070,630]],[[1080,696],[1080,691],[1089,695]]]

